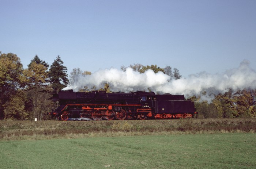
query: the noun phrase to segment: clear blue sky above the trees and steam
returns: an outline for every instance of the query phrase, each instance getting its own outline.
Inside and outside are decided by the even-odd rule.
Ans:
[[[0,51],[24,68],[60,55],[95,72],[169,65],[182,76],[256,68],[256,0],[0,0]]]

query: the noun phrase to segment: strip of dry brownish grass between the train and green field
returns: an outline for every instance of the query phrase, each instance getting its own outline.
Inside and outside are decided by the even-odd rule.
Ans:
[[[256,119],[0,121],[0,140],[256,131]]]

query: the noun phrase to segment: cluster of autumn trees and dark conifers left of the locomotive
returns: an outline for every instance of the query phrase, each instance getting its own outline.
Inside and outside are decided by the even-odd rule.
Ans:
[[[56,107],[50,98],[68,84],[59,55],[50,68],[37,55],[27,67],[16,54],[0,52],[0,119],[47,119]]]

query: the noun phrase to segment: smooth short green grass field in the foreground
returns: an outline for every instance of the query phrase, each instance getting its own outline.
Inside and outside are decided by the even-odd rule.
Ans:
[[[255,140],[217,133],[0,141],[0,168],[256,168]]]

